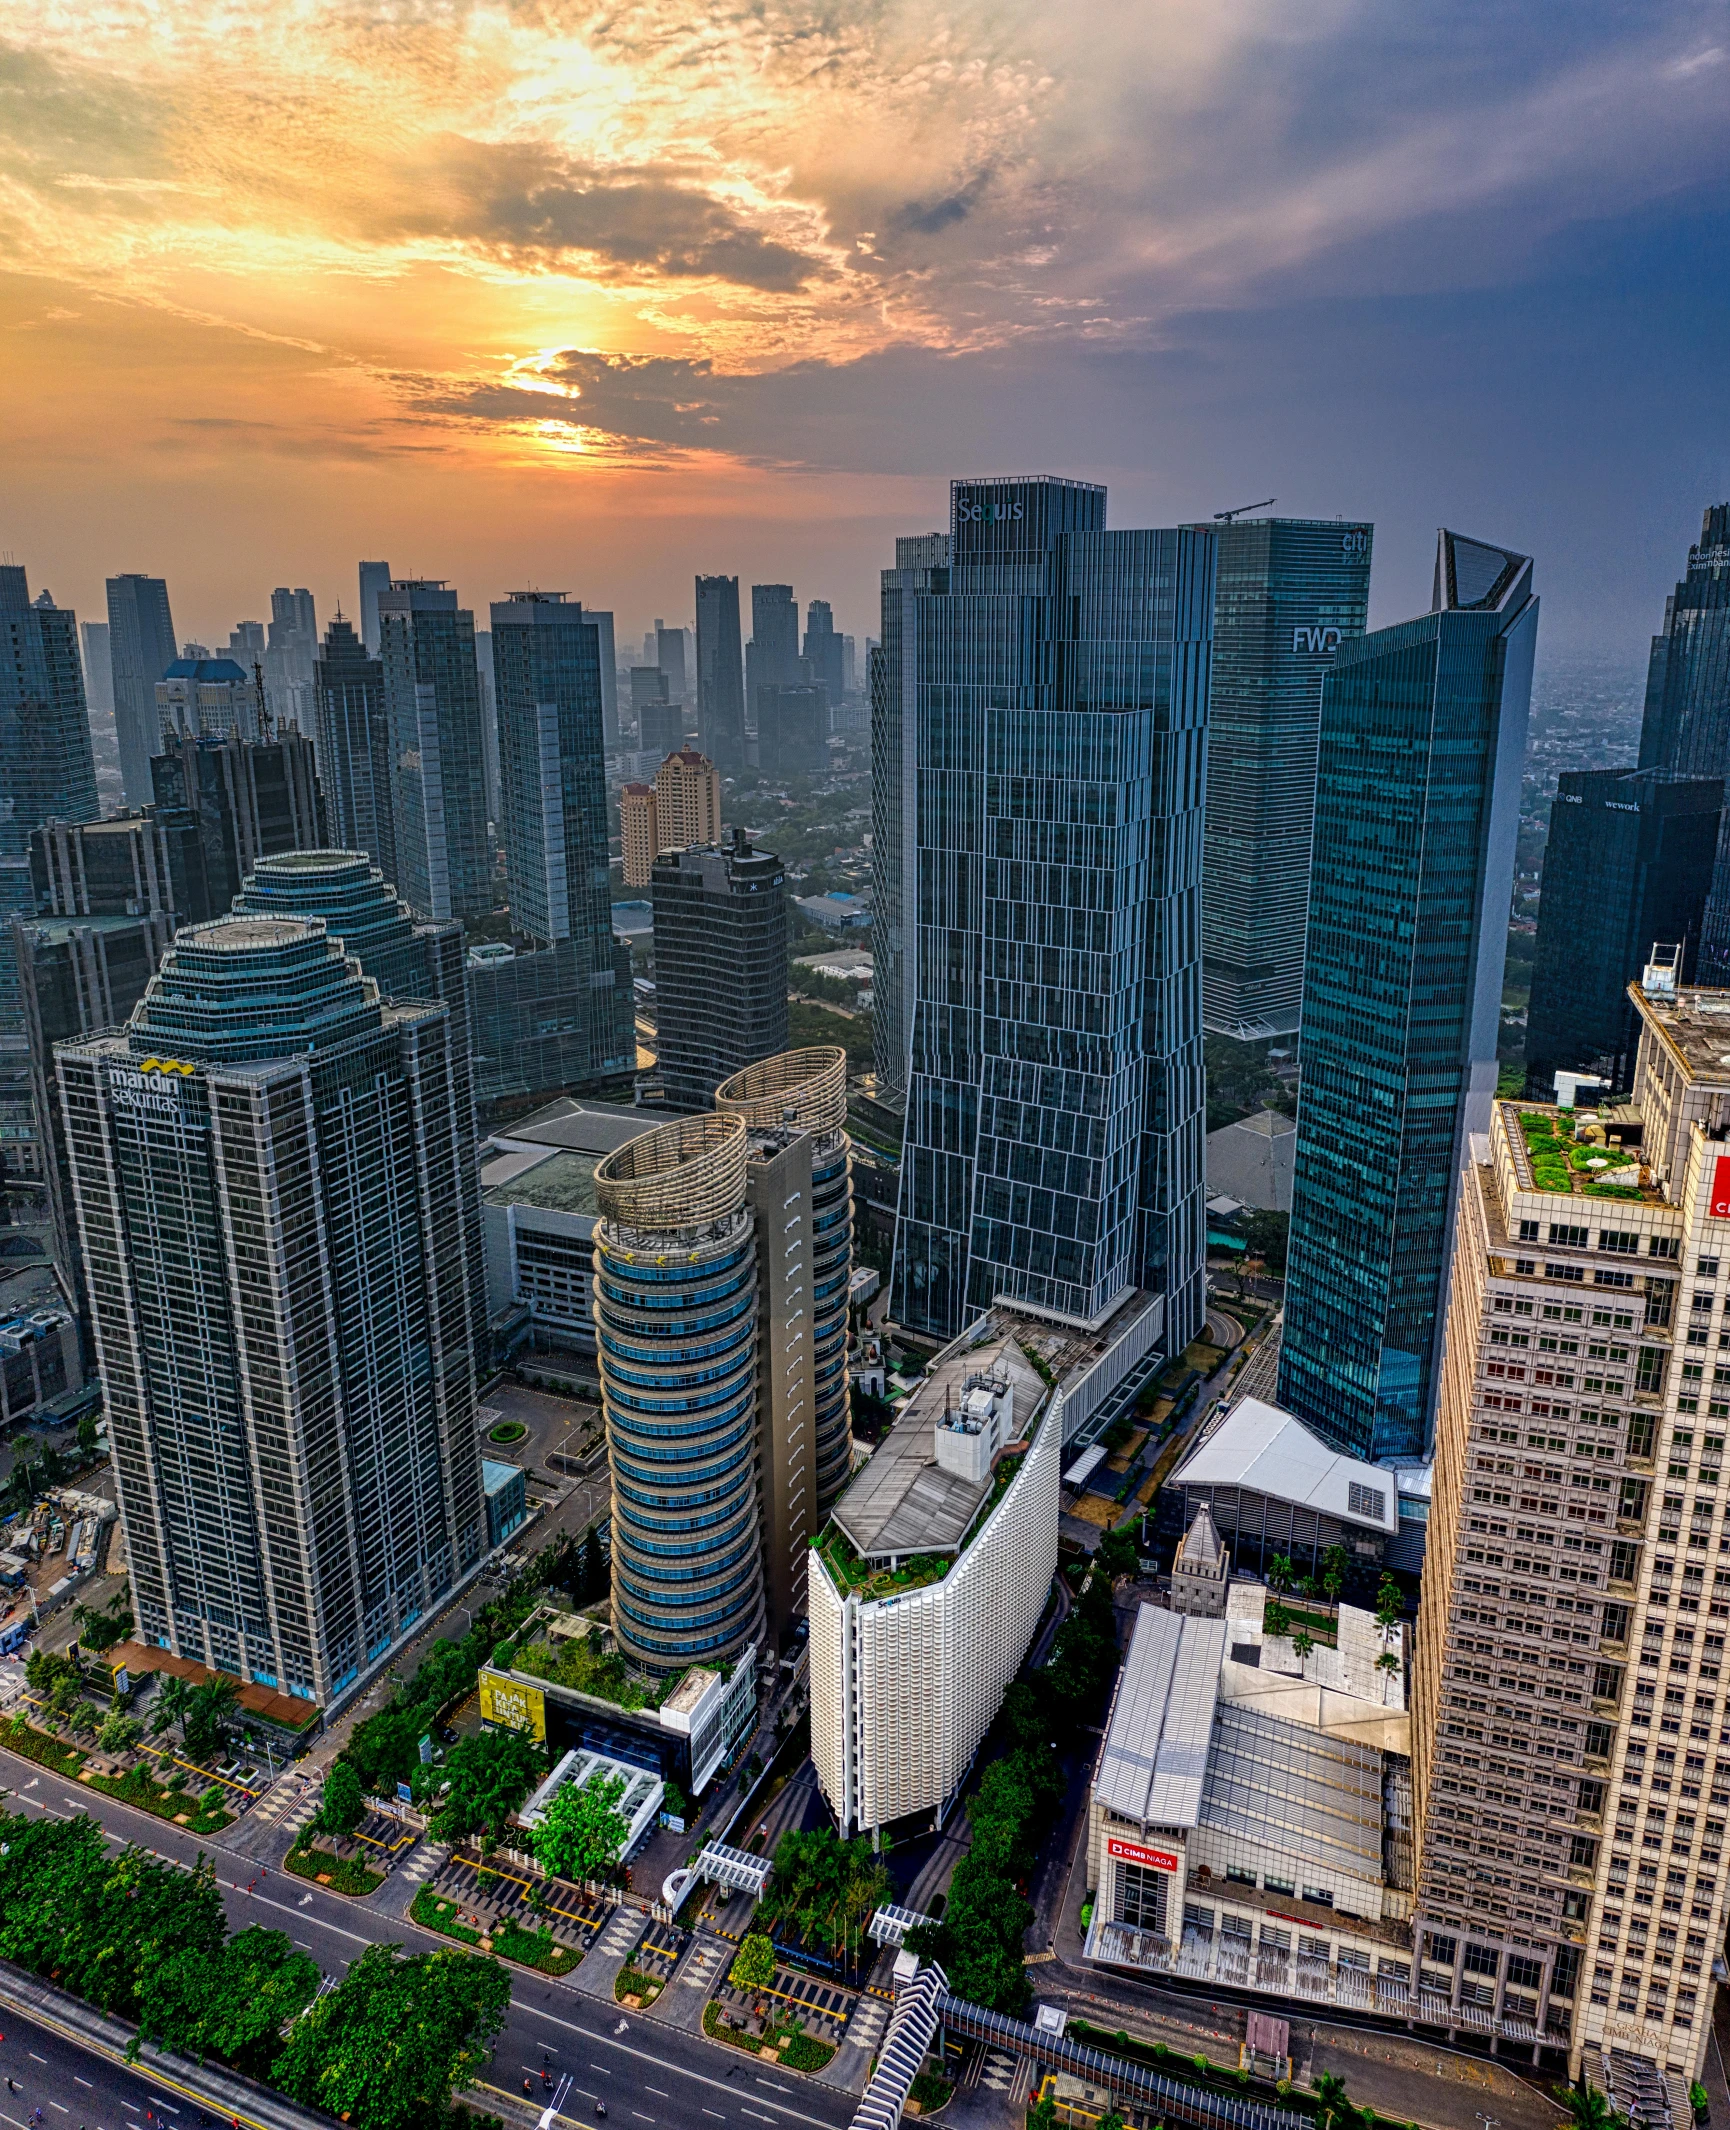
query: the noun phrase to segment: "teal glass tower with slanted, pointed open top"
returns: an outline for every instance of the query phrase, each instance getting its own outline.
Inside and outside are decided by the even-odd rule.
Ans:
[[[1530,558],[1442,532],[1430,613],[1342,643],[1321,697],[1278,1402],[1359,1457],[1430,1438],[1536,635]]]

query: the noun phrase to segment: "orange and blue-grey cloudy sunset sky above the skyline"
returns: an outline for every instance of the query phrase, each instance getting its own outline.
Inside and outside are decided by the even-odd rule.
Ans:
[[[0,550],[226,641],[358,556],[876,633],[952,473],[1538,556],[1643,656],[1730,492],[1730,6],[13,0]]]

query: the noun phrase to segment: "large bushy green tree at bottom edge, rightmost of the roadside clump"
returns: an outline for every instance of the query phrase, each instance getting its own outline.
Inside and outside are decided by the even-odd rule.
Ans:
[[[294,2021],[273,2079],[360,2130],[426,2130],[482,2070],[509,2002],[496,1960],[369,1945]]]

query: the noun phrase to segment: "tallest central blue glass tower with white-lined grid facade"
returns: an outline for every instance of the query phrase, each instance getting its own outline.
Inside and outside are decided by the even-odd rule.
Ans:
[[[995,1297],[1104,1323],[1204,1310],[1202,807],[1214,541],[1108,532],[1084,481],[950,490],[903,594],[916,901],[893,1312]]]

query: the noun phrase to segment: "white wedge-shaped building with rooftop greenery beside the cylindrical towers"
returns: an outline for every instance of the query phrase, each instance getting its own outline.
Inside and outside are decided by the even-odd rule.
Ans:
[[[844,1836],[942,1819],[1033,1640],[1063,1393],[1031,1329],[993,1312],[940,1355],[812,1546],[812,1759]]]

